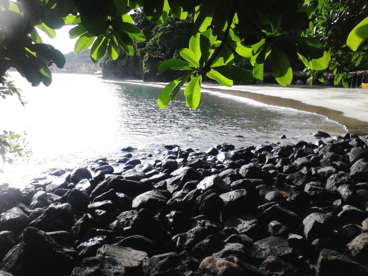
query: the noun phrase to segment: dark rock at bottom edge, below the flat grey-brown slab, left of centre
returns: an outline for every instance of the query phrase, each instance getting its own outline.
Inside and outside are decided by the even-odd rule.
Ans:
[[[125,276],[125,266],[107,256],[86,258],[82,266],[74,268],[71,276]]]

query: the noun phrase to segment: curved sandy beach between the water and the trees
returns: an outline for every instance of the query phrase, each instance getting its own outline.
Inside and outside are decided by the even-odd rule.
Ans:
[[[106,79],[106,81],[167,85],[165,82],[143,82],[141,80]],[[319,114],[344,125],[351,133],[368,134],[368,92],[365,92],[364,89],[321,88],[320,86],[300,88],[300,85],[279,87],[272,84],[227,87],[209,83],[203,83],[202,89],[244,97],[266,105],[289,107]]]

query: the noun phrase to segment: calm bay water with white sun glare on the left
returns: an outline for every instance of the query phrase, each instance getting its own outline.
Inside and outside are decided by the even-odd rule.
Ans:
[[[346,130],[323,116],[216,92],[203,91],[194,111],[185,106],[183,93],[161,110],[157,105],[161,85],[53,74],[51,86],[33,88],[19,74],[11,75],[28,105],[22,107],[15,97],[0,99],[0,130],[26,130],[33,150],[28,164],[0,167],[5,171],[0,183],[14,186],[100,157],[113,162],[124,154],[120,149],[125,146],[145,156],[166,144],[205,150],[222,142],[240,147],[265,141],[316,141],[310,134],[317,130],[332,135]],[[287,139],[280,140],[282,134]]]

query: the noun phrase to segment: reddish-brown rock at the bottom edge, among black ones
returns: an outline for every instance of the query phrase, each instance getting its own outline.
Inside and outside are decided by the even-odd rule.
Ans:
[[[205,258],[198,268],[201,275],[208,276],[244,276],[244,270],[235,263],[213,256]]]

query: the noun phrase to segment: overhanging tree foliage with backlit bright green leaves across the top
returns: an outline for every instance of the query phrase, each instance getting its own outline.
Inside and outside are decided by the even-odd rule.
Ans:
[[[79,37],[76,55],[92,46],[94,63],[106,52],[115,60],[120,46],[133,56],[134,42],[144,42],[146,38],[137,27],[143,29],[143,22],[138,18],[135,25],[128,13],[143,8],[156,25],[168,18],[170,10],[181,20],[188,11],[194,13],[192,36],[188,48],[179,52],[181,59],[168,59],[158,66],[159,73],[185,70],[163,89],[158,100],[161,108],[188,82],[184,94],[187,105],[195,109],[203,76],[227,86],[233,82],[249,84],[254,79],[262,83],[266,59],[270,59],[275,79],[281,85],[291,83],[291,64],[301,60],[314,70],[312,76],[318,76],[315,71],[336,69],[335,82],[342,80],[346,86],[348,76],[343,63],[339,64],[345,52],[336,52],[344,46],[339,46],[345,41],[344,34],[333,39],[336,33],[330,32],[328,22],[342,20],[355,25],[357,19],[350,12],[359,17],[366,13],[365,8],[361,9],[364,1],[358,2],[356,8],[355,1],[351,4],[346,0],[0,0],[0,75],[14,67],[34,86],[41,82],[50,85],[48,67],[52,63],[63,67],[65,59],[53,46],[42,43],[38,31],[54,37],[55,29],[64,25],[76,25],[70,30],[71,38]],[[364,24],[360,27],[367,29]],[[234,53],[250,59],[252,72],[234,64]],[[353,58],[359,59],[361,53],[353,54]]]

